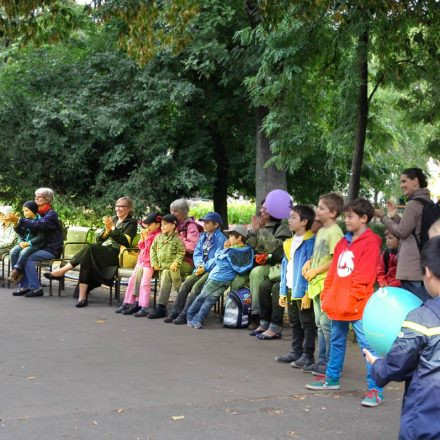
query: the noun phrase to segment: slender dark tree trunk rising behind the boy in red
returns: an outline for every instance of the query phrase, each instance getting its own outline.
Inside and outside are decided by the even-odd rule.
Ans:
[[[351,162],[350,184],[348,187],[348,200],[359,196],[361,184],[362,161],[364,158],[365,137],[368,121],[368,29],[365,29],[358,40],[358,120],[356,130],[356,145]]]

